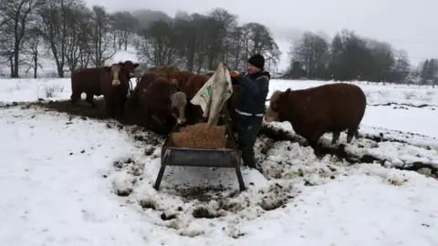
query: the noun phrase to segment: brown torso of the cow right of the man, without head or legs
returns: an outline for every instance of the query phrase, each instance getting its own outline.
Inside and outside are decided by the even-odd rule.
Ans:
[[[358,127],[366,107],[360,87],[342,83],[290,91],[287,100],[287,118],[299,135]]]

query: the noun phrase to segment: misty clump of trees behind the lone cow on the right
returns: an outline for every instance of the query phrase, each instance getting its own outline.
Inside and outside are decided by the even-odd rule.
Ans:
[[[349,30],[338,32],[331,43],[306,32],[289,55],[293,65],[289,77],[397,82],[411,72],[406,51]]]

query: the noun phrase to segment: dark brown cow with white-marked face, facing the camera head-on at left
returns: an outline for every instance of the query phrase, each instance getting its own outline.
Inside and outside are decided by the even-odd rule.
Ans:
[[[100,91],[105,98],[107,115],[110,118],[124,117],[125,104],[130,89],[129,70],[125,70],[123,63],[113,64],[111,67],[104,67],[108,72],[100,74]]]

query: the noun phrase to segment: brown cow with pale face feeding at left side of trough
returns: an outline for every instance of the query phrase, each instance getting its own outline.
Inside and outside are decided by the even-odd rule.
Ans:
[[[178,123],[185,123],[184,114],[173,114],[172,108],[185,108],[187,100],[176,93],[174,83],[169,82],[163,77],[155,79],[141,95],[141,125],[157,133],[168,134],[172,129],[175,118]]]

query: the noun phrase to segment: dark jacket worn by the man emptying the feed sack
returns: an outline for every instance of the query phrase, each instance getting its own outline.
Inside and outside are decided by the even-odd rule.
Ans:
[[[245,73],[245,75],[234,77],[232,83],[241,86],[235,108],[252,115],[265,114],[270,79],[271,75],[265,70],[252,75]]]

